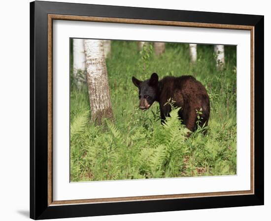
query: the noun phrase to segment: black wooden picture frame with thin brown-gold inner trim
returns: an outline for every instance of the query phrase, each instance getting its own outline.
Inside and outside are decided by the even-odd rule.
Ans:
[[[250,30],[250,191],[54,201],[53,20]],[[264,204],[264,16],[93,4],[30,3],[30,217],[52,219]]]

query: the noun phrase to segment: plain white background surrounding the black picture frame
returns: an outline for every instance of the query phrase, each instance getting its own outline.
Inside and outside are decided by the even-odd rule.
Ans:
[[[96,4],[265,15],[265,206],[132,214],[66,220],[267,221],[271,210],[271,14],[267,0],[66,0]],[[29,217],[29,0],[1,2],[0,34],[0,220]],[[269,61],[269,62],[268,62]],[[268,75],[269,73],[269,75]]]

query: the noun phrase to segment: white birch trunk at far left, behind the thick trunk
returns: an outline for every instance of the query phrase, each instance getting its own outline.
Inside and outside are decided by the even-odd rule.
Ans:
[[[77,88],[86,81],[86,58],[83,39],[73,40],[73,77]]]

